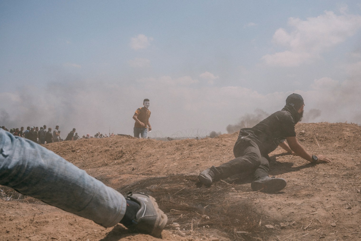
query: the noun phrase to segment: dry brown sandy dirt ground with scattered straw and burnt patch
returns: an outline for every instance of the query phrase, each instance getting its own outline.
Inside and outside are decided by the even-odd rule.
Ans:
[[[122,194],[153,195],[169,217],[163,240],[361,240],[360,133],[356,124],[297,124],[305,149],[332,163],[313,165],[276,149],[269,175],[287,180],[277,193],[252,191],[250,175],[211,187],[197,181],[201,170],[233,158],[238,133],[167,142],[116,136],[45,147]],[[120,224],[103,228],[0,189],[0,240],[160,240]]]

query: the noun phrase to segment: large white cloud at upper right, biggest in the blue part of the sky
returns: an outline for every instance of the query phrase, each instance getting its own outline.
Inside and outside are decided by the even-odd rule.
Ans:
[[[361,28],[361,16],[325,11],[306,20],[289,18],[288,25],[293,31],[280,28],[273,35],[273,42],[287,50],[263,56],[266,64],[298,66],[318,58],[322,52],[354,35]]]

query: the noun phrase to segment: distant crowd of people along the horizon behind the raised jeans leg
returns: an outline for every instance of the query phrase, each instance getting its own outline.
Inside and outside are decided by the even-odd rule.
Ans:
[[[1,126],[2,129],[12,133],[13,135],[23,137],[34,141],[38,144],[47,144],[52,142],[60,142],[60,141],[76,141],[80,139],[90,139],[90,138],[106,138],[114,136],[114,133],[110,134],[101,134],[100,132],[96,133],[94,136],[86,134],[82,137],[79,137],[78,133],[75,132],[75,128],[69,132],[65,139],[60,137],[60,130],[59,126],[55,126],[55,129],[52,130],[51,127],[47,129],[47,126],[44,125],[43,127],[38,126],[28,126],[24,131],[24,127],[19,128],[12,128],[10,130],[6,129],[5,126]]]

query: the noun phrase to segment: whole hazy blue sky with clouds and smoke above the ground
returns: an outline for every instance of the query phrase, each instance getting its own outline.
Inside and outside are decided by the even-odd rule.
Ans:
[[[292,92],[360,124],[360,30],[359,1],[0,1],[0,124],[131,134],[149,98],[153,135],[225,133]]]

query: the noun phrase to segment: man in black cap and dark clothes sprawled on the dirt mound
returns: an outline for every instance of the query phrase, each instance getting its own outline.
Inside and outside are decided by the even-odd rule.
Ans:
[[[254,181],[251,183],[253,191],[282,190],[286,186],[286,180],[268,176],[268,154],[277,146],[311,163],[331,162],[326,156],[309,154],[297,141],[295,124],[302,119],[304,106],[302,96],[293,93],[287,97],[286,106],[281,111],[273,113],[252,128],[241,129],[233,148],[235,159],[204,170],[198,176],[199,181],[209,186],[215,180],[254,172]]]

